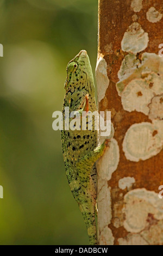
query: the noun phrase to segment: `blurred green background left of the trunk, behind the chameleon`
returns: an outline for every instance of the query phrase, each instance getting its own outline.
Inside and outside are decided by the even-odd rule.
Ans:
[[[69,60],[85,49],[95,70],[97,13],[97,0],[0,1],[1,245],[88,243],[52,113]]]

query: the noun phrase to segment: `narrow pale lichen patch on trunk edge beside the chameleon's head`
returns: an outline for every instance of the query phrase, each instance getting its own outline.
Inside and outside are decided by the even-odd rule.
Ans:
[[[109,86],[109,78],[107,75],[107,63],[103,57],[99,57],[96,65],[96,82],[98,90],[98,102],[100,102],[104,96],[106,89]]]

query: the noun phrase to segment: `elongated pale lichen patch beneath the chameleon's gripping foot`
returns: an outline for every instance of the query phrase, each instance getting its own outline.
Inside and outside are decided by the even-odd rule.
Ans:
[[[98,175],[101,176],[102,179],[110,180],[112,173],[114,173],[118,167],[119,161],[120,149],[118,143],[116,139],[111,138],[109,148],[105,150],[103,157],[98,160],[98,165],[101,166]]]

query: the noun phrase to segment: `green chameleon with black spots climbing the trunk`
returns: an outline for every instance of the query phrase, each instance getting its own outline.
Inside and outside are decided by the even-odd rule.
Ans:
[[[65,107],[69,107],[70,113],[78,111],[80,119],[82,119],[83,111],[86,111],[85,113],[97,111],[93,74],[86,51],[80,51],[68,63],[65,90],[62,109],[64,126]],[[70,118],[70,121],[72,119]],[[109,140],[106,139],[102,145],[97,147],[98,131],[95,130],[95,120],[92,122],[92,130],[88,129],[87,123],[84,131],[82,128],[81,130],[61,131],[62,154],[68,183],[84,217],[90,245],[97,245],[95,162],[103,155]]]

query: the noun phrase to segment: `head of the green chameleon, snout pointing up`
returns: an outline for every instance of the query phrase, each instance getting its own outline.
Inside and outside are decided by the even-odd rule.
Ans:
[[[93,75],[87,52],[82,50],[67,65],[65,89],[67,90],[69,87],[76,86],[80,86],[82,89],[83,84],[87,80],[92,80],[93,82]]]

